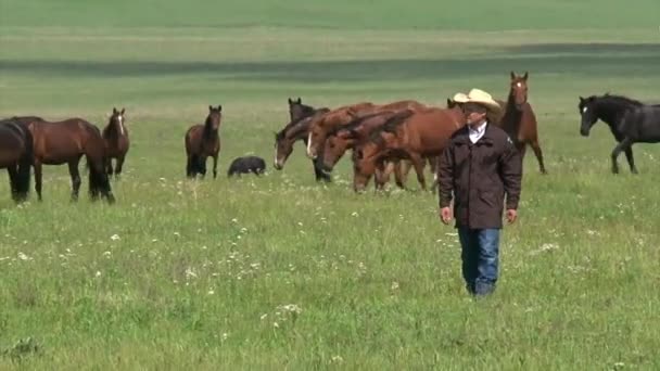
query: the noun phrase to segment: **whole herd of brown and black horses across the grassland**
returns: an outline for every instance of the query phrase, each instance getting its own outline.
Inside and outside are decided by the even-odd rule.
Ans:
[[[542,174],[547,174],[543,151],[538,143],[537,121],[528,101],[529,74],[510,74],[506,101],[499,113],[490,113],[488,121],[503,128],[521,157],[531,146]],[[637,174],[632,145],[638,142],[660,142],[660,105],[647,105],[639,101],[606,93],[580,97],[582,136],[588,136],[598,120],[609,125],[617,146],[612,151],[612,172],[619,172],[617,157],[625,153],[633,174]],[[187,153],[186,174],[189,178],[206,174],[206,162],[213,158],[213,176],[217,177],[220,151],[219,128],[223,106],[208,106],[204,124],[191,126],[185,136]],[[453,133],[466,125],[460,104],[447,100],[445,107],[433,107],[407,100],[388,104],[360,102],[338,108],[315,108],[303,104],[299,98],[289,99],[289,123],[275,133],[274,167],[281,170],[297,141],[304,142],[306,154],[313,163],[317,181],[331,181],[330,172],[342,156],[352,150],[354,169],[353,187],[363,191],[371,178],[377,189],[382,189],[394,175],[395,183],[405,188],[405,179],[412,168],[420,188],[426,190],[424,168],[435,174],[440,154]],[[14,116],[0,119],[0,168],[5,168],[11,184],[12,199],[25,201],[29,194],[31,168],[35,174],[35,191],[41,200],[42,165],[68,165],[72,179],[72,200],[78,199],[82,156],[86,157],[89,193],[113,203],[110,178],[122,174],[123,164],[130,146],[125,126],[125,110],[113,108],[107,125],[101,131],[81,118],[47,121],[38,116]],[[113,167],[112,161],[115,161]],[[264,165],[254,163],[261,174]],[[436,186],[434,177],[433,187]]]

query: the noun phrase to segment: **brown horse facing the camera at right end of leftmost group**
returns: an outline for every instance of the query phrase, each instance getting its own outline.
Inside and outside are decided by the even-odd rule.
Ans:
[[[122,111],[117,111],[116,107],[112,108],[112,115],[110,116],[110,120],[105,128],[103,129],[103,141],[105,142],[105,155],[106,155],[106,164],[105,169],[106,174],[112,177],[113,167],[112,159],[115,158],[115,168],[114,175],[116,178],[122,174],[122,166],[124,165],[124,159],[126,158],[126,153],[130,146],[130,141],[128,140],[128,130],[124,126],[125,123],[125,108]]]

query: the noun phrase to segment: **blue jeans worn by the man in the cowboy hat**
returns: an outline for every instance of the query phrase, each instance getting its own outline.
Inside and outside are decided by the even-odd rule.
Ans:
[[[495,291],[499,266],[499,229],[458,228],[462,247],[462,278],[468,292],[487,295]]]

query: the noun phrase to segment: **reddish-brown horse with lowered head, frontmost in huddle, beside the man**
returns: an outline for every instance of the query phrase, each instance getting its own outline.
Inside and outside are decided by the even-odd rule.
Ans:
[[[409,158],[421,189],[426,190],[424,159],[439,156],[454,131],[464,125],[465,116],[455,107],[419,111],[378,128],[353,152],[355,191],[364,190],[376,168],[388,158]]]

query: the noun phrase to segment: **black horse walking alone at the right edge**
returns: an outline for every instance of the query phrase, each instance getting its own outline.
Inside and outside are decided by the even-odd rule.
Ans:
[[[580,97],[578,110],[582,117],[580,133],[583,137],[588,137],[591,128],[598,119],[610,127],[618,142],[611,154],[613,174],[619,174],[617,157],[622,151],[631,172],[638,174],[632,145],[660,142],[660,104],[645,105],[626,97],[606,93],[600,97]]]

